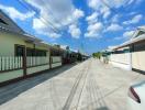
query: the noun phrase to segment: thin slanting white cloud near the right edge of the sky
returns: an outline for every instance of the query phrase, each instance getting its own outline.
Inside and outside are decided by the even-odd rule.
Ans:
[[[123,24],[135,24],[135,23],[138,23],[142,19],[143,19],[143,15],[137,14],[132,20],[124,21]]]

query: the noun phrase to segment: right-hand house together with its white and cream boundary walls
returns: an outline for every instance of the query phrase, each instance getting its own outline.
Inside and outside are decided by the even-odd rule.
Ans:
[[[132,38],[114,48],[110,63],[129,70],[145,73],[145,26],[140,26]]]

